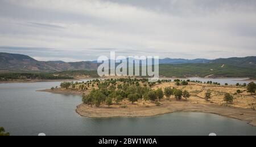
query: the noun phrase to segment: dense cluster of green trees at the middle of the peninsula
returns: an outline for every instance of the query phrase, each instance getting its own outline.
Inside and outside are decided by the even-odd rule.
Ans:
[[[117,81],[122,83],[117,83]],[[168,80],[158,82],[168,82]],[[166,96],[167,99],[174,96],[176,100],[181,100],[182,97],[186,99],[190,97],[189,92],[183,92],[182,90],[171,87],[167,87],[164,90],[161,88],[153,90],[151,89],[152,84],[154,83],[148,83],[147,80],[143,79],[109,79],[97,83],[98,89],[93,89],[88,95],[82,96],[82,101],[86,105],[100,107],[102,103],[108,106],[114,103],[119,104],[125,98],[131,103],[137,102],[138,100],[156,103],[161,101],[164,96]]]

